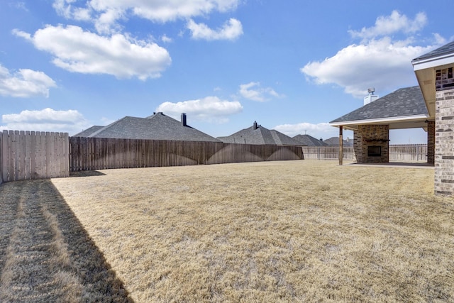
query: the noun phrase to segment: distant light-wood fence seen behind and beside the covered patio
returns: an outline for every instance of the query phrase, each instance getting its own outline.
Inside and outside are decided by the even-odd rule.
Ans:
[[[338,146],[304,146],[305,159],[338,160]],[[353,160],[353,147],[343,148],[343,160]],[[427,160],[427,144],[389,145],[389,161],[420,162]]]

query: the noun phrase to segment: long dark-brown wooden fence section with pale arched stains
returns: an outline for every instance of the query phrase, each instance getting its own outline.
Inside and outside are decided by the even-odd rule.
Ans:
[[[70,170],[304,159],[299,146],[70,138]]]

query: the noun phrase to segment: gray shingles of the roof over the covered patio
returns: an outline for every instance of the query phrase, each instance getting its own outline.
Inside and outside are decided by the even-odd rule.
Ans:
[[[427,115],[426,102],[419,87],[406,87],[331,121],[347,122],[401,116]]]

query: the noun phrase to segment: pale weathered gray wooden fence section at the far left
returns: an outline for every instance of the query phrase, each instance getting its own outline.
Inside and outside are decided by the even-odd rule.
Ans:
[[[0,133],[0,183],[68,177],[68,133],[3,131]]]

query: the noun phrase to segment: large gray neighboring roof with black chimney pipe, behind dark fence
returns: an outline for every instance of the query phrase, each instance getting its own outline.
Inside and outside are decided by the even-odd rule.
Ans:
[[[182,117],[183,118],[183,117]],[[184,121],[186,116],[184,116]],[[161,112],[147,118],[126,116],[89,134],[89,138],[148,139],[170,141],[210,141],[216,138],[177,121]]]

